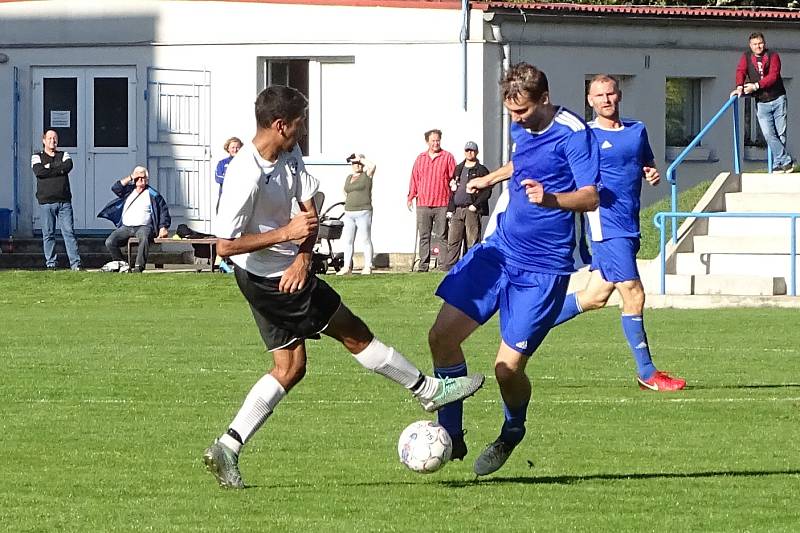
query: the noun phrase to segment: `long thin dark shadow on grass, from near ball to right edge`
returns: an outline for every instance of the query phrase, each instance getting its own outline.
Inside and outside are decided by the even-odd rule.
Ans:
[[[642,479],[702,479],[715,477],[766,477],[796,476],[800,470],[730,470],[712,472],[644,472],[639,474],[590,474],[584,476],[531,476],[492,477],[470,481],[442,481],[449,487],[469,487],[496,483],[521,483],[525,485],[572,485],[585,481],[638,481]]]

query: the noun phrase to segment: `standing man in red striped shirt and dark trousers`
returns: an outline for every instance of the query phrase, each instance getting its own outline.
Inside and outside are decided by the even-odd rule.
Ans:
[[[440,253],[447,228],[447,204],[450,202],[450,177],[456,168],[453,154],[442,150],[442,131],[425,132],[428,149],[417,156],[411,170],[406,205],[417,202],[417,232],[419,233],[419,272],[427,272],[431,261],[431,240]],[[444,265],[442,264],[442,269]]]

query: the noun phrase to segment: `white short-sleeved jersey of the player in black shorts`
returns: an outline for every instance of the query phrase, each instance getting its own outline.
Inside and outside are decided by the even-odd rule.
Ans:
[[[306,172],[299,146],[295,145],[291,152],[281,152],[272,163],[248,143],[225,173],[214,234],[233,239],[286,226],[292,217],[292,206],[313,198],[318,188],[319,182]],[[280,277],[294,261],[298,248],[293,242],[283,242],[230,259],[251,274]]]

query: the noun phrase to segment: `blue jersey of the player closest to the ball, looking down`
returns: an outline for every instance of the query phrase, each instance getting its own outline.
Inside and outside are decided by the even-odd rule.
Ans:
[[[600,185],[597,140],[575,113],[558,108],[542,131],[511,125],[514,174],[508,184],[509,202],[498,216],[497,230],[486,245],[497,248],[506,263],[545,274],[575,271],[575,217],[571,211],[532,204],[521,181],[532,178],[545,192],[572,192]]]

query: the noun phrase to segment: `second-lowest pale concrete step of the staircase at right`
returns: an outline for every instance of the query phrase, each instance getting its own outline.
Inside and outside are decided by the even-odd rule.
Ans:
[[[800,273],[800,259],[795,268]],[[681,252],[675,256],[675,270],[686,275],[774,276],[788,281],[791,261],[788,254],[719,254]]]

